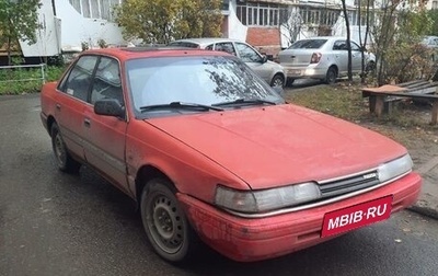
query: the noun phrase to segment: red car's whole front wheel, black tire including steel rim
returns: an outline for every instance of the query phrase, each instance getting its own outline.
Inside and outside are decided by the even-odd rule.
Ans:
[[[199,240],[169,181],[153,179],[145,185],[140,214],[148,240],[160,257],[175,264],[194,260],[199,250]]]

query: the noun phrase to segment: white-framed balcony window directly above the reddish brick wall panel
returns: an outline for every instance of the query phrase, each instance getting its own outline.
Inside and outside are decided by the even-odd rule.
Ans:
[[[237,7],[238,19],[246,26],[278,26],[287,11],[287,5],[272,3],[246,3]]]

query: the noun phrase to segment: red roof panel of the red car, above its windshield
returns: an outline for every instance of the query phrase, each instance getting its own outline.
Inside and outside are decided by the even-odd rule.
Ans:
[[[148,57],[177,57],[177,56],[231,56],[223,51],[212,51],[187,47],[120,47],[103,48],[82,51],[81,55],[113,56],[119,60],[129,60]]]

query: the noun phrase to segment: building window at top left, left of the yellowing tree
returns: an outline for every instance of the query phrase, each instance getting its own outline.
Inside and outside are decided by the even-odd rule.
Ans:
[[[113,21],[113,7],[124,0],[69,0],[70,4],[82,16],[88,19],[103,19]]]

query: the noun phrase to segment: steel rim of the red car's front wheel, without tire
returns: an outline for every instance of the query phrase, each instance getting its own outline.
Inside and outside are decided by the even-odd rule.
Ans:
[[[157,245],[168,254],[176,253],[184,243],[184,221],[176,203],[157,195],[148,205],[147,223]]]

